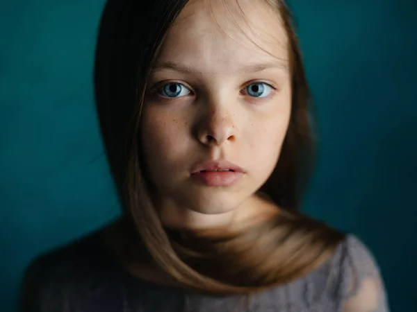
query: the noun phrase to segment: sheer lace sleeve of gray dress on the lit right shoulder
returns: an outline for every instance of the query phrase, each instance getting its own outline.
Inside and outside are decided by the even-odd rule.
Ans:
[[[373,254],[357,237],[347,238],[343,265],[343,312],[389,312],[384,281]]]

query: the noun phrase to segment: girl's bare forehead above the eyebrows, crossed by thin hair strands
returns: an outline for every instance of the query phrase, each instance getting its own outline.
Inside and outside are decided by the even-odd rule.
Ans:
[[[249,64],[288,60],[287,35],[277,10],[263,0],[191,0],[162,46],[158,63],[204,73],[236,73]]]

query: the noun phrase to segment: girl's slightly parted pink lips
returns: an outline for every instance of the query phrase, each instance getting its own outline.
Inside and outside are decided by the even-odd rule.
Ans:
[[[207,187],[230,187],[244,174],[242,168],[231,162],[206,162],[193,168],[191,178]]]

